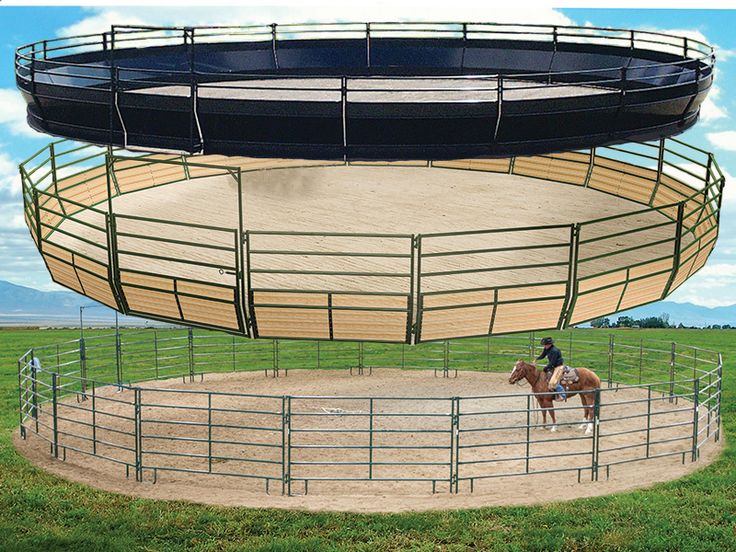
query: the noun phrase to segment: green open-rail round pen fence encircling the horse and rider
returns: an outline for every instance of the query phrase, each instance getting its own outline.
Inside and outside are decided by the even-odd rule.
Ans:
[[[288,495],[335,483],[350,494],[389,482],[472,492],[499,477],[540,473],[597,480],[630,462],[696,461],[719,440],[719,353],[592,331],[557,341],[571,364],[601,378],[590,433],[576,430],[577,400],[558,403],[559,433],[541,432],[534,395],[454,396],[449,380],[443,397],[351,396],[355,379],[346,380],[348,394],[311,396],[238,393],[228,390],[232,379],[209,376],[326,368],[320,377],[343,370],[378,378],[374,369],[393,367],[508,386],[508,367],[539,352],[533,334],[406,347],[147,330],[26,353],[18,362],[21,435],[46,441],[57,458],[117,464],[138,481],[169,472],[232,476]],[[402,373],[381,381],[401,385]],[[201,379],[207,383],[198,389]]]

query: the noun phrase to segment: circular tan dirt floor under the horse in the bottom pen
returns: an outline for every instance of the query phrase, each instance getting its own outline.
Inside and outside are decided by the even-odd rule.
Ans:
[[[663,386],[604,384],[600,423],[586,435],[578,397],[556,403],[552,432],[529,387],[509,385],[508,374],[353,374],[238,372],[88,388],[57,402],[59,460],[49,455],[51,403],[39,406],[38,429],[26,420],[31,431],[16,444],[53,473],[134,496],[365,512],[604,495],[681,477],[722,446],[716,416]]]

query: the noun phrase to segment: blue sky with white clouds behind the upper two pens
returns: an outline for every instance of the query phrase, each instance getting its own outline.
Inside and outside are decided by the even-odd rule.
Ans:
[[[234,25],[306,21],[416,20],[417,9],[396,2],[212,7],[0,7],[0,280],[43,290],[51,281],[22,218],[18,163],[50,137],[25,122],[15,88],[13,52],[44,38],[109,31],[111,24]],[[494,3],[445,3],[423,10],[427,21],[496,21],[658,30],[704,40],[717,48],[717,72],[694,128],[680,136],[713,151],[726,173],[718,245],[705,268],[668,299],[715,307],[736,304],[736,10],[552,9],[499,10]]]

